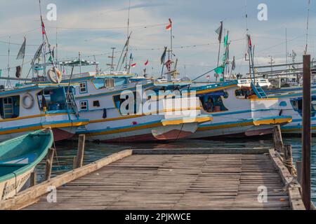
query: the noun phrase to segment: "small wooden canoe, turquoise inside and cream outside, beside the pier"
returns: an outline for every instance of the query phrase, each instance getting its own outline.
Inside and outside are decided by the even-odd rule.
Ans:
[[[16,195],[53,145],[51,129],[0,143],[0,201]]]

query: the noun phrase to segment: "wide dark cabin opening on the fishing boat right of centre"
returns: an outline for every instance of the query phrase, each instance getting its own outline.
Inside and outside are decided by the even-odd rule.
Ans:
[[[228,111],[224,106],[223,98],[228,98],[227,92],[212,92],[211,94],[202,95],[199,97],[200,102],[202,103],[203,109],[206,112],[214,113],[220,111]]]

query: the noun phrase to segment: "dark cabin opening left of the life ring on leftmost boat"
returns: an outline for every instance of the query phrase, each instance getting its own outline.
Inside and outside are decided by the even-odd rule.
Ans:
[[[0,99],[1,118],[18,118],[20,116],[20,96],[4,97]]]

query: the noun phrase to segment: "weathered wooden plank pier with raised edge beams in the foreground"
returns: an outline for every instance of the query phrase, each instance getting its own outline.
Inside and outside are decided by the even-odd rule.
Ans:
[[[47,200],[51,186],[57,202]],[[265,189],[267,202],[259,196]],[[0,209],[305,209],[299,189],[274,149],[127,150],[33,186]]]

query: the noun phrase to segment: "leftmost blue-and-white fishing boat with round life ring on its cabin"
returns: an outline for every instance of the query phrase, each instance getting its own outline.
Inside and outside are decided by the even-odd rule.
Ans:
[[[0,141],[46,127],[60,141],[86,124],[88,120],[79,118],[70,85],[28,84],[0,90]]]

